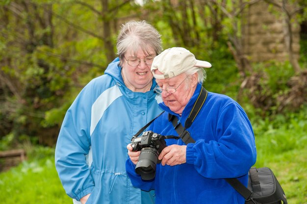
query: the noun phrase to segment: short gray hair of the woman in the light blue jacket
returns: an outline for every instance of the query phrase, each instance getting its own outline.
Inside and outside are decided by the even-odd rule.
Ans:
[[[135,55],[142,48],[146,54],[153,48],[155,54],[162,52],[162,40],[159,32],[146,21],[129,21],[122,25],[117,37],[117,54],[122,62],[124,54],[130,49]]]

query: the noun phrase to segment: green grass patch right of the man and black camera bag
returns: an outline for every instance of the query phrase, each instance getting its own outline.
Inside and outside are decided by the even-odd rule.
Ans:
[[[259,120],[254,126],[256,167],[269,167],[287,196],[288,204],[307,204],[307,113],[274,121]]]

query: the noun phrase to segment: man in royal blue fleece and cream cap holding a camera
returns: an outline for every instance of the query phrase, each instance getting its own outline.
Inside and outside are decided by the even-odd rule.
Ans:
[[[135,172],[142,151],[127,146],[128,176],[136,187],[155,189],[156,204],[245,203],[225,179],[237,178],[247,185],[248,171],[256,162],[255,136],[237,102],[202,87],[203,68],[209,67],[210,63],[196,60],[181,47],[166,49],[153,60],[155,91],[162,94],[163,103],[159,105],[164,113],[148,130],[162,136],[178,136],[182,131],[188,135],[165,139],[167,147],[158,155],[161,163],[156,165],[155,177],[147,181]],[[195,105],[201,95],[205,95],[203,102]],[[200,110],[191,113],[195,106]],[[190,113],[195,118],[191,119]]]

